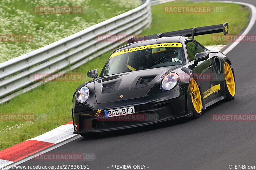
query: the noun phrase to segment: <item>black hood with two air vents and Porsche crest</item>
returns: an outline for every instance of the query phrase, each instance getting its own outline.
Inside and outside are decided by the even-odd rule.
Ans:
[[[132,71],[97,78],[94,82],[97,103],[144,97],[168,70],[170,67]]]

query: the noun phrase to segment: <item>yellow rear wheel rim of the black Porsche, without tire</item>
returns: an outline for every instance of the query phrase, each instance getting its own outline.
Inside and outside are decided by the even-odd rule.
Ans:
[[[227,62],[224,63],[224,73],[225,73],[225,80],[226,80],[228,92],[230,93],[231,96],[235,96],[235,93],[236,93],[235,78],[234,78],[232,69]]]

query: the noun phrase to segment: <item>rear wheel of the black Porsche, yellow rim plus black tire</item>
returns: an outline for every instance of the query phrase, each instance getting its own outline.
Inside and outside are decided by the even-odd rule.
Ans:
[[[225,93],[226,101],[234,100],[236,94],[236,82],[233,71],[228,62],[224,63]]]

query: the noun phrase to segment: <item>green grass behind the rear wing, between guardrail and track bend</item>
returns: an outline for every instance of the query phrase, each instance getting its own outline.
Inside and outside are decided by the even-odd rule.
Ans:
[[[224,12],[219,13],[164,13],[164,6],[212,6],[221,8]],[[200,26],[210,26],[224,24],[228,22],[229,33],[232,35],[238,34],[248,22],[249,11],[247,7],[242,7],[239,4],[229,3],[191,3],[191,2],[171,2],[160,4],[152,7],[153,21],[151,27],[142,34],[151,35],[156,33],[164,33],[181,29],[188,29]],[[223,33],[218,33],[223,35]],[[215,35],[215,34],[214,34]],[[212,34],[196,36],[195,39],[204,46],[227,44],[228,42],[212,42]]]

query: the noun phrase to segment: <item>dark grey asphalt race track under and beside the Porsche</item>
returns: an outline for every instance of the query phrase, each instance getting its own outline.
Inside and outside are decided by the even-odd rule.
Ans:
[[[240,0],[256,6],[255,0]],[[256,24],[249,35],[256,35]],[[256,166],[255,122],[214,122],[211,115],[255,114],[254,42],[240,42],[227,56],[235,69],[236,98],[204,110],[201,118],[163,122],[149,127],[79,137],[47,153],[95,153],[95,161],[36,161],[20,165],[89,165],[92,170],[111,165],[146,165],[145,169],[227,170],[229,165]],[[109,168],[108,168],[109,167]],[[112,168],[113,169],[113,168]]]

